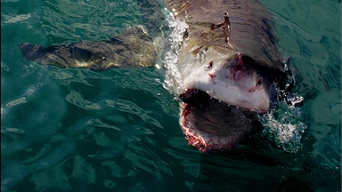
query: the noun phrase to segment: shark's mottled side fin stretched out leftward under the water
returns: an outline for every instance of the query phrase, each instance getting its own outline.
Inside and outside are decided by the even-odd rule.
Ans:
[[[120,67],[151,67],[157,58],[158,46],[140,26],[126,30],[110,41],[77,44],[61,44],[44,47],[35,44],[20,44],[26,60],[61,68],[91,68],[104,70]]]

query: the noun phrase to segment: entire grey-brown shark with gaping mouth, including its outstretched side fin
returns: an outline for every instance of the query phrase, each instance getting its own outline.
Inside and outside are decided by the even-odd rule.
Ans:
[[[277,47],[272,15],[258,1],[164,0],[188,26],[178,52],[180,124],[200,151],[236,148],[260,130],[257,116],[288,91],[289,71]],[[51,47],[20,44],[22,56],[61,68],[152,67],[162,48],[141,27],[109,41]]]

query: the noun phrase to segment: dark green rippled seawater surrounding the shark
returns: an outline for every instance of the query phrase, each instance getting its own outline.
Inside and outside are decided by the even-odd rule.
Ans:
[[[301,148],[254,135],[203,154],[183,140],[156,68],[55,68],[18,44],[106,40],[163,25],[136,0],[1,1],[2,191],[341,191],[341,3],[264,1],[305,98]],[[165,25],[165,23],[164,23]]]

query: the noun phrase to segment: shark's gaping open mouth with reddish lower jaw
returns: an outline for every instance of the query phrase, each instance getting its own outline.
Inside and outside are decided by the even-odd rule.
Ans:
[[[261,128],[256,112],[215,100],[206,92],[187,90],[180,99],[184,138],[199,151],[236,148],[248,133]]]

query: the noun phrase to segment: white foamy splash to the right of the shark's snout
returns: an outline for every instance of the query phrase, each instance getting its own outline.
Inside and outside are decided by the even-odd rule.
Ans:
[[[289,153],[296,153],[302,147],[300,140],[306,124],[303,123],[298,104],[303,100],[297,94],[288,94],[286,99],[278,103],[277,108],[260,116],[260,122],[265,127],[263,134]]]

